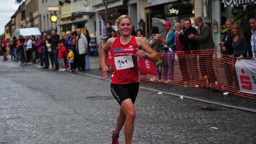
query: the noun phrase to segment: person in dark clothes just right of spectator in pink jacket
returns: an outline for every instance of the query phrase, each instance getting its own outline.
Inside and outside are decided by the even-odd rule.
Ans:
[[[43,68],[48,69],[49,68],[49,56],[48,56],[49,54],[48,54],[47,46],[51,46],[51,44],[48,43],[47,33],[43,33],[42,45],[43,45],[43,63],[44,63]]]

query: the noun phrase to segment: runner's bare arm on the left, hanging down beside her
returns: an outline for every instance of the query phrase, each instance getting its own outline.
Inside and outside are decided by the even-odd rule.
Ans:
[[[101,50],[101,69],[102,69],[102,75],[104,79],[107,78],[107,70],[108,70],[108,67],[106,66],[107,53],[111,49],[111,46],[114,40],[115,38],[109,38],[106,44],[103,46],[103,49]]]

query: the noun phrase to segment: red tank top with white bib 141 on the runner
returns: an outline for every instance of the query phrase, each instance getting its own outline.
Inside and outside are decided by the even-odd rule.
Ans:
[[[128,44],[122,45],[117,37],[112,45],[112,56],[115,60],[114,72],[111,76],[112,84],[139,83],[138,61],[135,57],[138,48],[135,36]]]

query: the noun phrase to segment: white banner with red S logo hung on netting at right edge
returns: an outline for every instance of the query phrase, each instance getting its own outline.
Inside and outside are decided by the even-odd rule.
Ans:
[[[256,60],[236,60],[235,70],[240,91],[256,94]]]

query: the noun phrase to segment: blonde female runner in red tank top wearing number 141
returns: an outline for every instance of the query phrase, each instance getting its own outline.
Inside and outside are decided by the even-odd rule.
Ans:
[[[123,125],[125,125],[126,144],[131,144],[136,115],[133,104],[139,89],[139,58],[147,58],[154,62],[159,59],[146,40],[130,35],[132,24],[129,16],[120,16],[117,19],[117,28],[121,36],[109,38],[103,46],[101,68],[103,78],[106,79],[108,70],[106,58],[108,51],[112,49],[115,67],[111,77],[111,92],[121,107],[116,128],[110,131],[111,144],[119,144],[119,132]],[[142,50],[139,50],[139,47]]]

